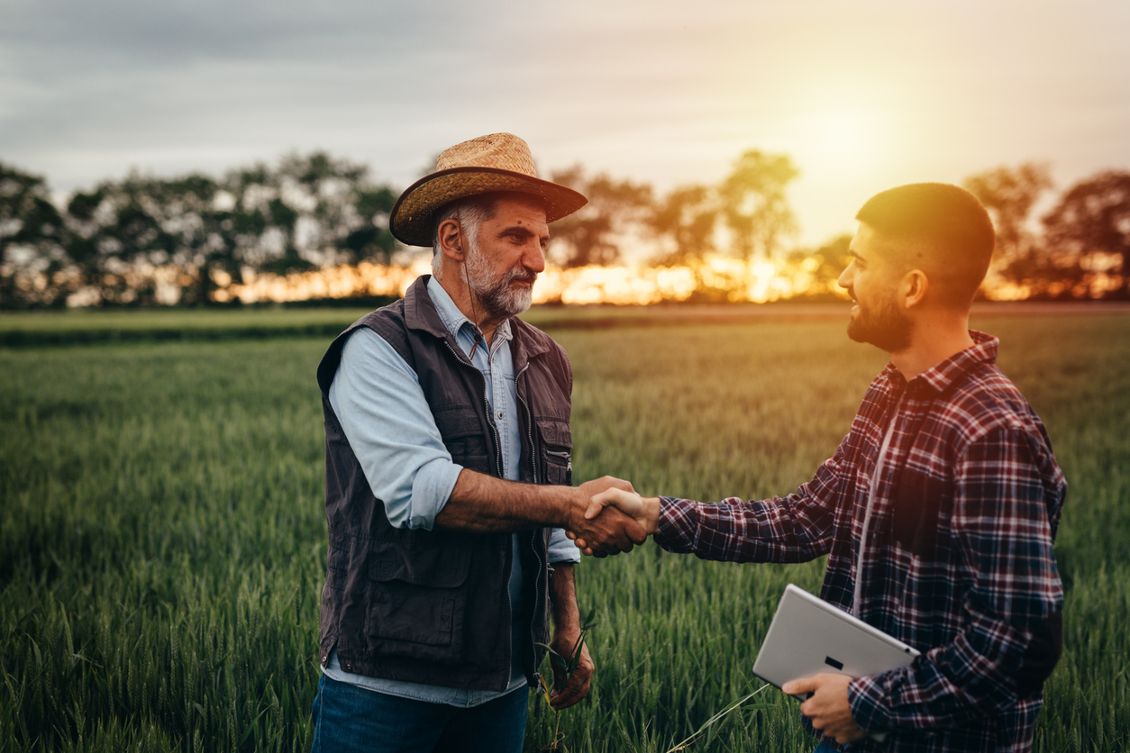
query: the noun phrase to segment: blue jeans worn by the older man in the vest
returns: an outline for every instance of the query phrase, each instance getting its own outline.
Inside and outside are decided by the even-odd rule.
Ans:
[[[311,710],[312,753],[521,753],[525,711],[525,689],[468,709],[322,675]]]

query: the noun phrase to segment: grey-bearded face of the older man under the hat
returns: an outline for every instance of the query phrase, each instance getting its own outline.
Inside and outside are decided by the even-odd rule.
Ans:
[[[495,216],[468,237],[467,278],[477,305],[492,318],[510,318],[530,307],[533,282],[546,269],[549,226],[536,201],[503,198]]]

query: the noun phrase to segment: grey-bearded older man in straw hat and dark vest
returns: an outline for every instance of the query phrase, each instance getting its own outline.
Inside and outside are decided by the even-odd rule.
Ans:
[[[496,133],[444,151],[393,207],[393,235],[432,245],[433,275],[354,323],[318,369],[329,552],[314,751],[520,751],[539,643],[564,655],[580,634],[560,527],[631,485],[571,485],[573,373],[516,315],[548,224],[584,203]],[[590,536],[602,552],[644,540],[626,516]],[[581,700],[592,673],[585,649],[553,706]]]

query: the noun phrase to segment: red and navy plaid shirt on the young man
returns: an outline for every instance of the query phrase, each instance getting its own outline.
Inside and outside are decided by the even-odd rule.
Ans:
[[[849,685],[859,726],[889,730],[851,751],[1027,751],[1059,658],[1052,541],[1067,483],[1040,418],[996,366],[998,340],[971,335],[973,348],[910,383],[888,364],[794,493],[661,501],[664,549],[736,562],[829,554],[820,596],[922,651]]]

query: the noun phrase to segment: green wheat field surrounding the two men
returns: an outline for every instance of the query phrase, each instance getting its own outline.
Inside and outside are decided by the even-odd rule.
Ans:
[[[1066,650],[1036,750],[1128,751],[1130,314],[974,326],[1001,338],[1070,483]],[[308,750],[329,338],[301,334],[0,347],[0,753]],[[576,374],[575,478],[702,500],[809,479],[885,361],[842,318],[554,335]],[[784,585],[815,592],[823,567],[651,543],[585,560],[593,689],[531,713],[527,751],[666,753],[762,685],[750,667]],[[687,750],[812,747],[771,688]]]

